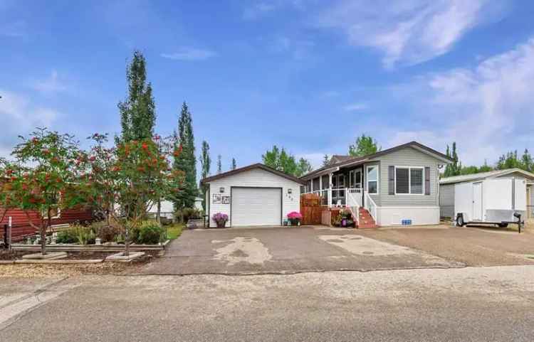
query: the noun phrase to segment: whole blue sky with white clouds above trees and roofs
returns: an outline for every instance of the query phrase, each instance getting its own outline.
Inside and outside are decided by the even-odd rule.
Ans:
[[[224,169],[273,144],[317,166],[362,133],[382,148],[457,141],[464,164],[493,163],[534,151],[533,14],[530,1],[0,0],[0,155],[36,126],[118,133],[139,49],[157,132],[186,100]]]

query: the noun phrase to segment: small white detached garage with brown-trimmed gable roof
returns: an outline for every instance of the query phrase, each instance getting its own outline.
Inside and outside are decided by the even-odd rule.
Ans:
[[[216,227],[211,216],[228,215],[226,227],[277,226],[291,211],[300,209],[302,182],[263,164],[204,178],[207,186],[206,215],[209,227]]]

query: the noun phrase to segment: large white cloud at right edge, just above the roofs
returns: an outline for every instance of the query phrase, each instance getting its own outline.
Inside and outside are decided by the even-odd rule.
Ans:
[[[418,140],[442,149],[457,141],[464,164],[496,161],[534,148],[534,38],[513,50],[417,79],[411,100],[414,129],[393,130],[389,144]],[[404,92],[402,96],[409,94]]]

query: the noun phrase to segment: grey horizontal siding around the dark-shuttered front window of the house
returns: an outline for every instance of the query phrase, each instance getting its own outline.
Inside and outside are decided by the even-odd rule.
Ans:
[[[440,161],[412,147],[406,147],[380,156],[379,198],[373,199],[379,206],[438,206],[438,164]],[[430,195],[389,195],[389,166],[428,166],[430,168]]]

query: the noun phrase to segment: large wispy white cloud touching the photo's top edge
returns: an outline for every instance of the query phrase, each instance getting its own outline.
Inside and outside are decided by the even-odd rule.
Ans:
[[[339,28],[355,46],[376,48],[384,67],[417,64],[442,55],[502,6],[488,0],[341,0],[318,19]]]

